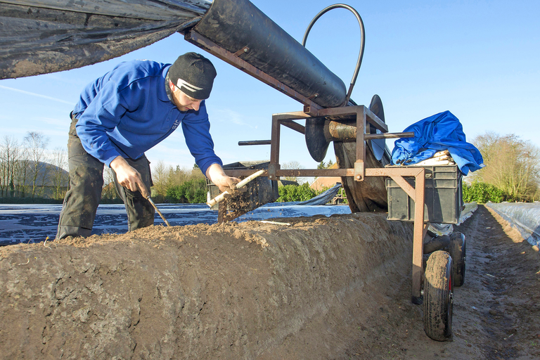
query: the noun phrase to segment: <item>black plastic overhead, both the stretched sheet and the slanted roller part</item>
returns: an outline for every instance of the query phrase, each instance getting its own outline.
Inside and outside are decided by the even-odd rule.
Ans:
[[[195,26],[196,25],[196,26]],[[322,107],[347,89],[248,0],[0,0],[0,79],[80,68],[195,31]]]

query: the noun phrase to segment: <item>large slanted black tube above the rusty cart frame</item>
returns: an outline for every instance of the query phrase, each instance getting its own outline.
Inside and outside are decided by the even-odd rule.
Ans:
[[[342,80],[248,0],[214,0],[195,32],[324,108],[345,102]]]

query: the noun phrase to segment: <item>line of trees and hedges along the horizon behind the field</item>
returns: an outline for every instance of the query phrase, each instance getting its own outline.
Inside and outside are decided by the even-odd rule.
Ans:
[[[486,167],[470,174],[470,184],[463,184],[466,203],[488,201],[532,202],[540,200],[540,149],[515,134],[499,135],[488,131],[473,141]],[[68,155],[65,148],[48,150],[49,139],[37,131],[28,131],[23,141],[13,136],[0,140],[0,198],[49,198],[61,201],[68,187]],[[321,162],[319,169],[333,165]],[[299,169],[298,162],[283,168]],[[105,167],[105,202],[121,202],[113,184],[113,172]],[[152,196],[156,202],[205,203],[207,183],[196,165],[193,168],[153,166]],[[297,178],[291,176],[290,179]],[[318,195],[307,184],[280,189],[280,201],[301,201]]]

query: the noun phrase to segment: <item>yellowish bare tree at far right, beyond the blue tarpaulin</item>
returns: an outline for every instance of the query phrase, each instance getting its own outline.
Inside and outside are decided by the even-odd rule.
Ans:
[[[473,178],[493,184],[512,198],[536,200],[540,186],[540,149],[515,134],[500,136],[487,132],[473,144],[480,150],[486,167]]]

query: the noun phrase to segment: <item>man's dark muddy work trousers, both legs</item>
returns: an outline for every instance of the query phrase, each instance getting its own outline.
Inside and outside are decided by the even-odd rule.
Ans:
[[[68,192],[65,193],[62,212],[60,212],[58,233],[56,233],[58,239],[91,235],[103,189],[103,162],[86,153],[75,131],[76,124],[77,119],[72,116],[68,140],[70,186]],[[126,158],[126,161],[141,174],[143,183],[150,189],[153,184],[150,176],[150,162],[146,156],[143,155],[137,160]],[[153,206],[143,198],[139,191],[130,191],[118,184],[114,171],[113,174],[116,191],[126,207],[128,231],[153,225],[155,212]]]

